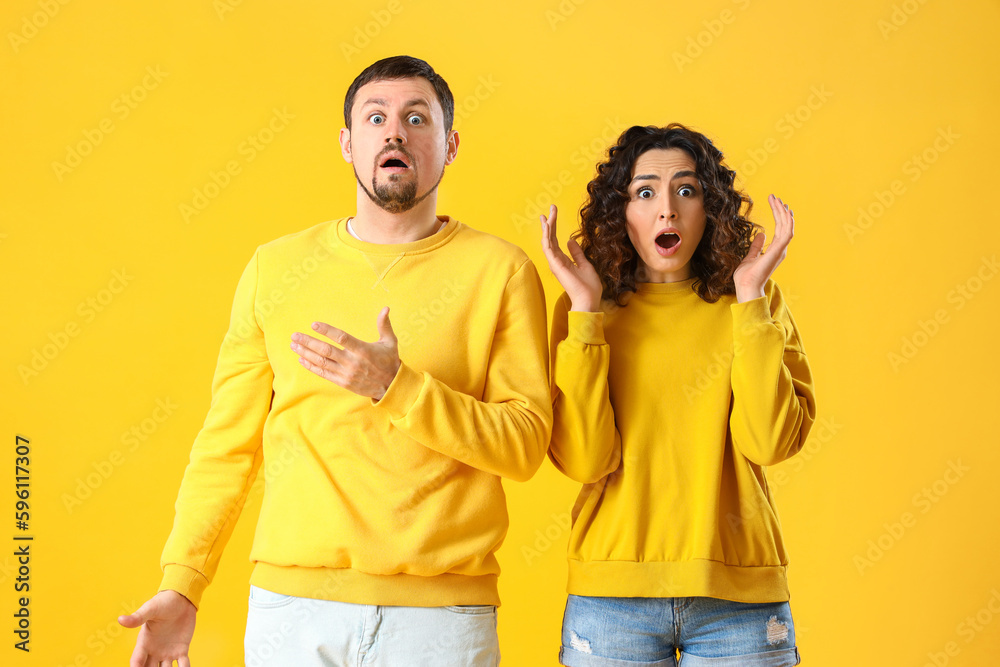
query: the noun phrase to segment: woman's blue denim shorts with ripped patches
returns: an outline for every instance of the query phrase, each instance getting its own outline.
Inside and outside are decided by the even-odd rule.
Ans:
[[[787,602],[570,595],[559,662],[568,667],[799,664]]]

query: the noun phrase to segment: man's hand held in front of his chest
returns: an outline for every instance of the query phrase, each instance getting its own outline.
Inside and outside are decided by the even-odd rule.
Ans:
[[[379,339],[366,343],[323,322],[313,330],[334,343],[330,345],[302,333],[292,334],[292,349],[299,363],[316,375],[361,396],[381,400],[399,370],[399,343],[389,323],[389,309],[383,308],[376,322]]]

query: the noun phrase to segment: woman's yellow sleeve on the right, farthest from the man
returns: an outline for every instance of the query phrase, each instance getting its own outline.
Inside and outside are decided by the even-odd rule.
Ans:
[[[750,461],[774,465],[802,448],[816,419],[809,359],[773,281],[765,296],[731,309],[733,443]]]

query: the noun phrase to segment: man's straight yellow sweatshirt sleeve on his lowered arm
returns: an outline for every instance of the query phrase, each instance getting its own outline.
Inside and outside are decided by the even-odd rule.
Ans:
[[[212,381],[212,404],[191,449],[160,558],[160,590],[177,591],[195,607],[215,575],[262,459],[273,374],[254,308],[259,252],[236,288]]]

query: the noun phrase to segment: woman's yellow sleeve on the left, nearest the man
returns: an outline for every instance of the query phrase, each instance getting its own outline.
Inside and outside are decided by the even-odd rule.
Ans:
[[[549,457],[567,477],[591,484],[621,463],[621,435],[608,392],[611,348],[604,339],[604,313],[569,306],[563,294],[552,315]]]

